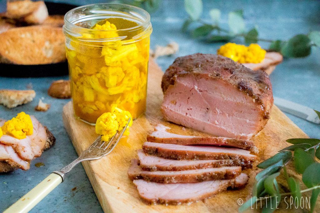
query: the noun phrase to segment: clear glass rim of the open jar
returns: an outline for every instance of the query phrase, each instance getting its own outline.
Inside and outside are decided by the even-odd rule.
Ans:
[[[105,17],[105,18],[104,18]],[[91,29],[77,24],[81,22],[89,22],[97,19],[106,18],[124,18],[136,22],[138,25],[130,28],[116,29],[116,30],[97,30]],[[64,16],[64,30],[69,31],[72,28],[72,32],[82,32],[82,33],[94,33],[97,31],[104,32],[121,32],[121,31],[134,31],[139,29],[147,29],[151,26],[150,15],[147,11],[127,4],[110,4],[110,3],[100,3],[100,4],[89,4],[80,7],[76,7],[66,13]],[[93,26],[93,25],[92,25]],[[91,27],[92,27],[91,26]]]

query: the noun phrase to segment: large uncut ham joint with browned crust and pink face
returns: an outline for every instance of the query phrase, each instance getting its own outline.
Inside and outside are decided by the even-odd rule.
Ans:
[[[162,79],[168,121],[215,136],[248,140],[267,123],[273,105],[269,76],[230,58],[177,58]]]

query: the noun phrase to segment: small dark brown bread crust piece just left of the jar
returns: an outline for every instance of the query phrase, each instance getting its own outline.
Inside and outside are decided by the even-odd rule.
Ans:
[[[48,94],[54,98],[70,98],[71,89],[69,80],[57,80],[52,82]]]

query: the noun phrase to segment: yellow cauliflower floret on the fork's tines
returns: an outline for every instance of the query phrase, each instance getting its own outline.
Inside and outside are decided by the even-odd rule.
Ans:
[[[116,106],[116,104],[112,104],[111,112],[105,112],[97,119],[96,133],[102,135],[102,141],[108,141],[117,131],[121,131],[131,118],[129,111],[121,110]],[[129,135],[129,126],[132,126],[132,119],[124,131],[124,135]]]

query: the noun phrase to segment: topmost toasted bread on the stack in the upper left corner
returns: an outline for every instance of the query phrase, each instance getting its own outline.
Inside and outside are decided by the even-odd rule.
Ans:
[[[8,1],[6,17],[10,19],[21,19],[29,24],[42,23],[48,17],[48,9],[44,1]]]

